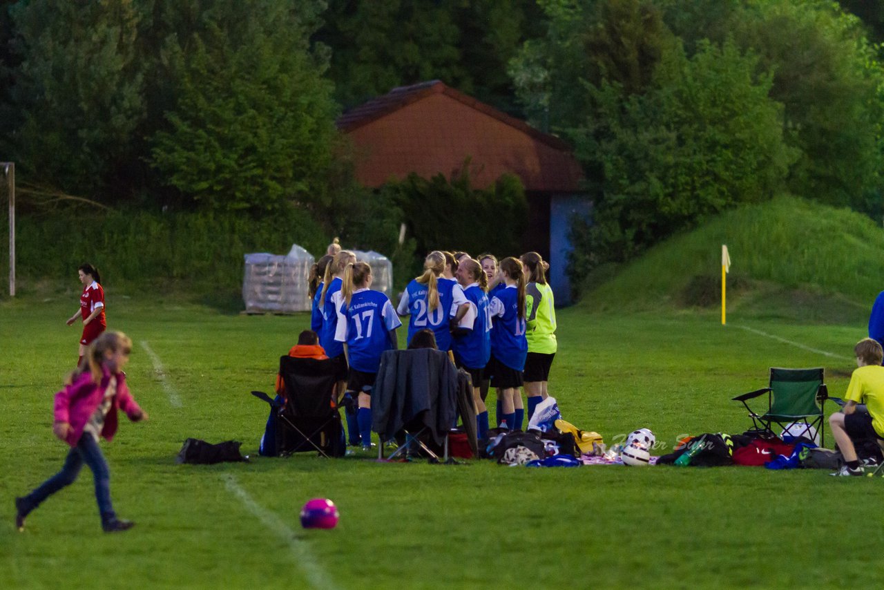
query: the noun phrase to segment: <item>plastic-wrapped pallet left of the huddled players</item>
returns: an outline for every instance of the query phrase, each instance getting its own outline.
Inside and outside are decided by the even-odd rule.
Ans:
[[[247,254],[242,300],[247,313],[309,311],[307,278],[314,258],[293,245],[286,256],[265,252]]]

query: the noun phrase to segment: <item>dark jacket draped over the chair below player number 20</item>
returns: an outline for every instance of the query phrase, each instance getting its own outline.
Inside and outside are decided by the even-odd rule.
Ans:
[[[436,349],[387,350],[371,392],[372,430],[389,441],[427,426],[442,444],[457,418],[457,370]]]

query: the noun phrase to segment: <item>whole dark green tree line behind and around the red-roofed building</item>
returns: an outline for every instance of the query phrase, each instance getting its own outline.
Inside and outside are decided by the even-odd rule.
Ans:
[[[371,241],[334,120],[440,79],[572,142],[591,268],[778,193],[880,216],[882,35],[850,0],[0,0],[0,153],[34,195]]]

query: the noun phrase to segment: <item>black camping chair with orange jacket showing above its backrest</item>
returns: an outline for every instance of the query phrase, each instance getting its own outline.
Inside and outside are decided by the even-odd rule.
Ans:
[[[277,407],[277,448],[280,456],[316,449],[322,456],[344,456],[344,429],[335,398],[335,364],[330,359],[281,356],[279,375],[285,403],[269,395],[252,395]]]

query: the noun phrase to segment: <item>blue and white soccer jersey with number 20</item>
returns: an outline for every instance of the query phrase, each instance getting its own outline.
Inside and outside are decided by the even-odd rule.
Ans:
[[[412,280],[405,287],[397,311],[400,315],[410,315],[408,321],[408,344],[415,333],[430,328],[436,336],[436,346],[439,350],[451,349],[451,329],[448,319],[457,314],[457,309],[467,302],[463,295],[463,289],[456,280],[439,277],[436,286],[438,288],[439,304],[435,310],[430,309],[427,301],[428,289],[423,283]]]

